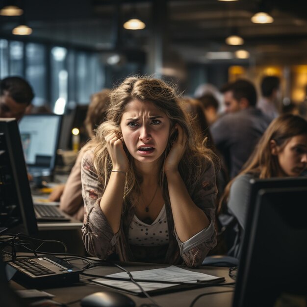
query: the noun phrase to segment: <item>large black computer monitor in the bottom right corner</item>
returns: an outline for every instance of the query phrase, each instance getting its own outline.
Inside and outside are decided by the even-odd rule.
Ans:
[[[258,191],[245,230],[233,307],[273,307],[283,294],[306,296],[306,200],[306,186]]]

